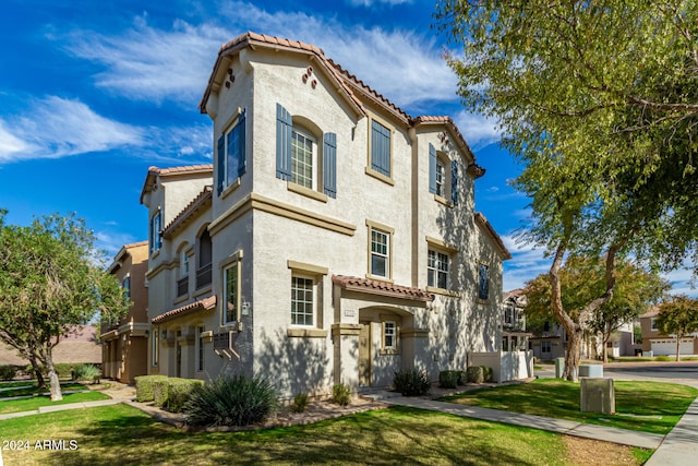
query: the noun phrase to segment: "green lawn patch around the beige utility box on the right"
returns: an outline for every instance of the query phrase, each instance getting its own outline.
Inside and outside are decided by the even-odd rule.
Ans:
[[[614,389],[615,416],[581,413],[579,384],[558,379],[476,390],[443,401],[665,434],[698,396],[694,387],[662,382],[615,381]]]

